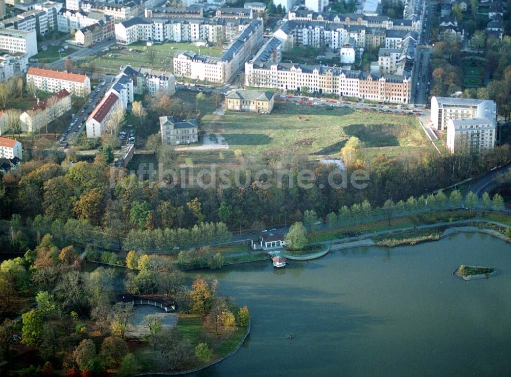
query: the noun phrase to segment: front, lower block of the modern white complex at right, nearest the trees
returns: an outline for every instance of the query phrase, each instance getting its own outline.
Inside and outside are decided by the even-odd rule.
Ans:
[[[487,118],[449,119],[447,148],[456,154],[480,154],[495,147],[497,128]]]

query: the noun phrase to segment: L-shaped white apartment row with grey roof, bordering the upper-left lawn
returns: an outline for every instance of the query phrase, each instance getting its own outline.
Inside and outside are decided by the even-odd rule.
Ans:
[[[248,57],[263,42],[263,23],[252,20],[227,47],[221,57],[201,56],[191,52],[174,56],[175,76],[202,81],[227,83],[237,73]]]

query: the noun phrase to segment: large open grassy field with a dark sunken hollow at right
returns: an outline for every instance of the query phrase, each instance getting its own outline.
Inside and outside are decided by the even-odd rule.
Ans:
[[[332,156],[351,136],[365,142],[368,156],[396,156],[411,148],[432,147],[413,116],[323,106],[279,103],[270,115],[227,112],[213,128],[225,137],[229,149],[241,149],[245,154],[271,150],[275,154]]]

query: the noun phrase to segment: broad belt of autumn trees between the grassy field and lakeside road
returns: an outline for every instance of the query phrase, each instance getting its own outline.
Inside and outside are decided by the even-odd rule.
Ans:
[[[10,230],[12,248],[22,252],[33,246],[23,244],[25,230],[34,236],[52,233],[59,243],[74,240],[113,249],[169,250],[225,242],[230,237],[227,228],[261,230],[266,225],[301,221],[307,210],[323,217],[364,199],[371,207],[381,207],[387,199],[397,203],[472,177],[510,157],[504,145],[480,157],[411,153],[397,158],[379,155],[369,161],[353,158],[347,179],[354,169],[365,169],[369,180],[364,189],[350,182],[346,188],[333,188],[329,177],[335,166],[315,165],[301,156],[266,155],[262,160],[242,156],[241,173],[231,171],[228,176],[235,182],[238,174],[242,187],[206,189],[181,187],[180,178],[171,182],[175,187],[160,188],[129,175],[112,184],[112,170],[103,155],[92,163],[34,161],[3,177],[0,208],[7,219],[22,214]],[[277,165],[289,172],[279,180],[282,187],[277,185]],[[255,181],[260,169],[267,171]],[[303,169],[312,172],[310,188],[296,185]],[[333,176],[337,184],[345,180]]]

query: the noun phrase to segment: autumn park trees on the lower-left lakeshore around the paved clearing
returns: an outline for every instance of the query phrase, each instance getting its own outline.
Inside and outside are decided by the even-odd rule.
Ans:
[[[3,261],[0,363],[7,361],[15,373],[20,366],[11,359],[30,351],[32,365],[17,371],[21,375],[104,375],[106,369],[113,369],[127,376],[141,371],[149,360],[137,362],[131,353],[130,332],[140,330],[135,329],[133,304],[120,300],[115,295],[119,290],[168,297],[180,312],[203,316],[205,331],[218,337],[227,338],[235,325],[249,324],[247,307],[238,308],[233,299],[216,295],[216,281],[196,279],[190,287],[169,257],[130,252],[123,263],[129,268],[124,279],[111,268],[86,272],[73,245],[58,247],[48,234],[23,257]],[[117,284],[123,280],[124,289]],[[17,316],[23,298],[35,298],[35,308],[23,313],[21,321],[9,319]],[[138,340],[137,347],[144,342],[151,346],[147,358],[156,370],[210,361],[213,353],[208,346],[197,351],[199,345],[190,343],[179,330],[165,328],[157,316],[146,316],[138,326],[148,335]],[[16,341],[18,334],[21,339]]]

